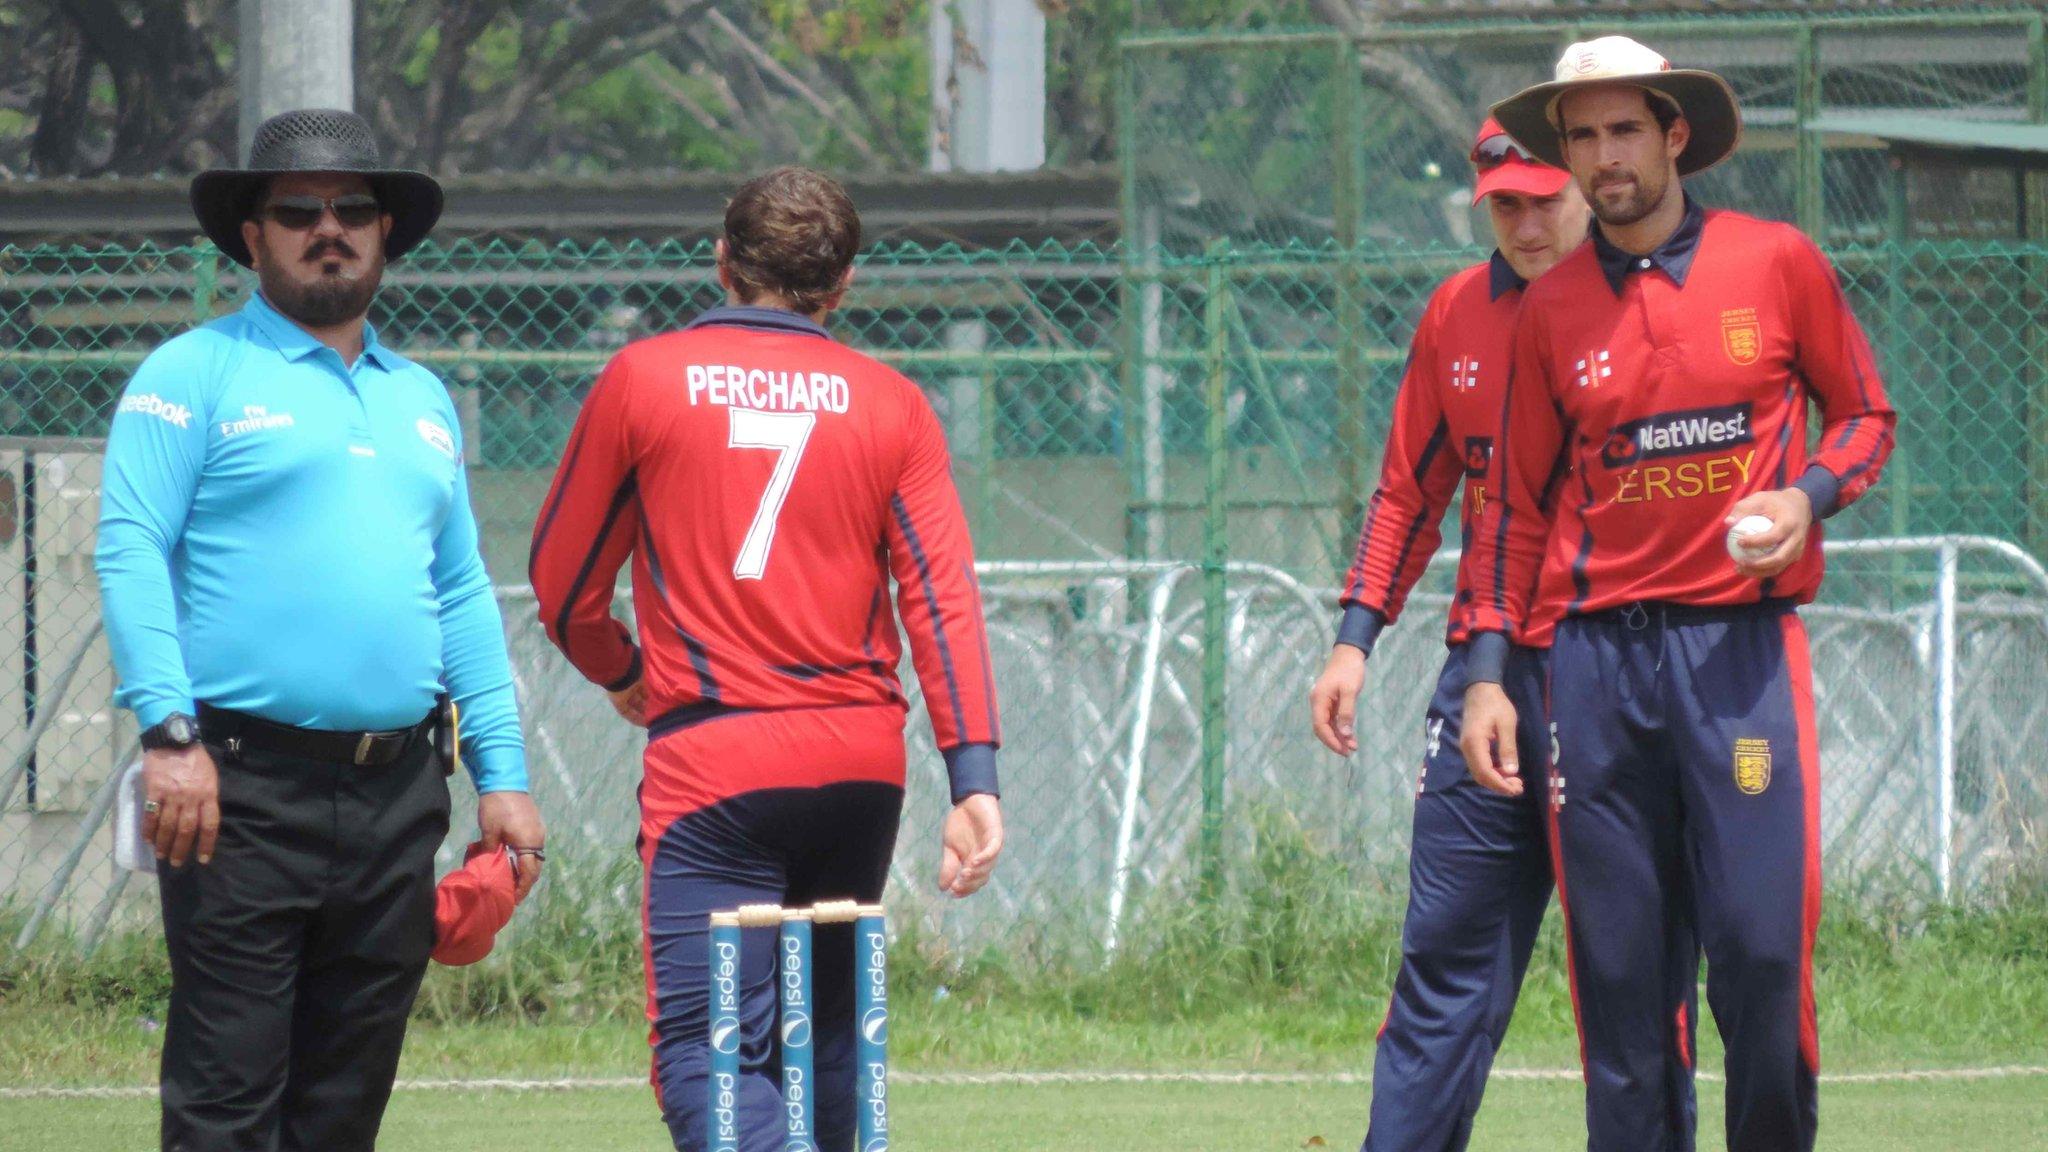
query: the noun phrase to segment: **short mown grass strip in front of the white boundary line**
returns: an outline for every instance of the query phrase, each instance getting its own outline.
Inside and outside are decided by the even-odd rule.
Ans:
[[[1708,1086],[1710,1088],[1710,1086]],[[2048,1148],[2048,1078],[1833,1084],[1821,1148],[1843,1152],[2028,1152]],[[1722,1148],[1718,1093],[1700,1101],[1700,1148]],[[1362,1086],[1049,1084],[895,1088],[899,1152],[1087,1148],[1260,1152],[1356,1148]],[[39,1152],[141,1150],[154,1101],[0,1101],[0,1144]],[[1321,1140],[1321,1144],[1317,1144]],[[381,1148],[408,1152],[592,1152],[668,1148],[645,1088],[399,1093]],[[1585,1148],[1575,1082],[1495,1082],[1479,1152]]]

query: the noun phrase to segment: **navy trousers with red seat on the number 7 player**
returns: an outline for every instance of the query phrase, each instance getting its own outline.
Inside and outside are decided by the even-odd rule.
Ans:
[[[641,779],[647,1023],[662,1119],[698,1152],[711,1107],[711,912],[881,900],[903,812],[903,709],[719,711],[664,732]],[[854,1144],[854,927],[811,943],[815,1144],[786,1136],[776,1027],[776,929],[739,955],[741,1152],[848,1152]]]

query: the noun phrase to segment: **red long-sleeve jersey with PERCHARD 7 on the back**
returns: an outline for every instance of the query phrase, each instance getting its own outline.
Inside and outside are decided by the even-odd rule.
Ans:
[[[637,648],[610,615],[627,556]],[[891,576],[938,746],[993,748],[995,676],[938,416],[903,375],[760,307],[612,357],[532,535],[549,640],[598,685],[643,674],[649,715],[903,705]]]

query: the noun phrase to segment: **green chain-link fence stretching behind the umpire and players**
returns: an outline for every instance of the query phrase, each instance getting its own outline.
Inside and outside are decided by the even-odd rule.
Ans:
[[[2017,162],[1901,146],[1929,121],[2048,123],[2040,8],[1626,29],[1589,10],[1135,37],[1124,246],[864,256],[834,328],[946,420],[1010,734],[1001,875],[942,902],[944,773],[911,715],[897,898],[930,929],[1112,943],[1204,861],[1233,883],[1276,812],[1362,892],[1399,896],[1448,558],[1374,654],[1358,756],[1311,740],[1305,693],[1415,318],[1483,250],[1473,127],[1610,31],[1731,78],[1745,146],[1694,191],[1825,242],[1901,410],[1890,474],[1831,523],[1808,613],[1831,883],[1995,898],[2048,869],[2028,754],[2048,738],[2048,195]],[[211,248],[0,250],[0,656],[18,652],[0,672],[0,910],[27,914],[18,939],[152,922],[104,828],[135,736],[98,633],[98,437],[150,348],[248,289]],[[465,244],[395,266],[375,314],[465,422],[555,828],[545,900],[633,914],[639,744],[514,582],[532,512],[604,359],[719,297],[709,248]]]

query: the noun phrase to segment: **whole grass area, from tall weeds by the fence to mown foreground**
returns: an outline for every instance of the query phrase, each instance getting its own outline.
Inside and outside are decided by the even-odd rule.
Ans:
[[[893,1062],[905,1074],[1264,1072],[1288,1084],[899,1082],[899,1150],[1356,1148],[1370,1037],[1399,961],[1384,900],[1280,842],[1239,896],[1155,918],[1143,947],[1100,968],[1016,941],[958,955],[903,937],[891,955]],[[584,908],[594,904],[584,904]],[[535,910],[516,947],[434,970],[401,1076],[639,1078],[639,963],[631,924],[580,920],[573,900]],[[0,929],[6,916],[0,914]],[[168,974],[162,943],[119,939],[80,959],[61,939],[0,953],[0,1093],[141,1086],[156,1076]],[[1704,998],[1702,998],[1704,1000]],[[1993,910],[1886,912],[1833,900],[1817,953],[1821,1148],[1841,1152],[2048,1152],[2048,1076],[1860,1076],[2048,1066],[2048,898]],[[1556,918],[1530,968],[1505,1070],[1571,1070],[1577,1041]],[[1720,1070],[1710,1021],[1700,1068]],[[1829,1080],[1829,1076],[1858,1080]],[[150,1099],[0,1095],[0,1150],[154,1146]],[[1475,1148],[1585,1146],[1573,1078],[1497,1078]],[[1323,1144],[1315,1140],[1321,1138]],[[383,1148],[582,1152],[666,1148],[651,1093],[401,1091]],[[1700,1084],[1700,1148],[1718,1150],[1720,1084]]]

